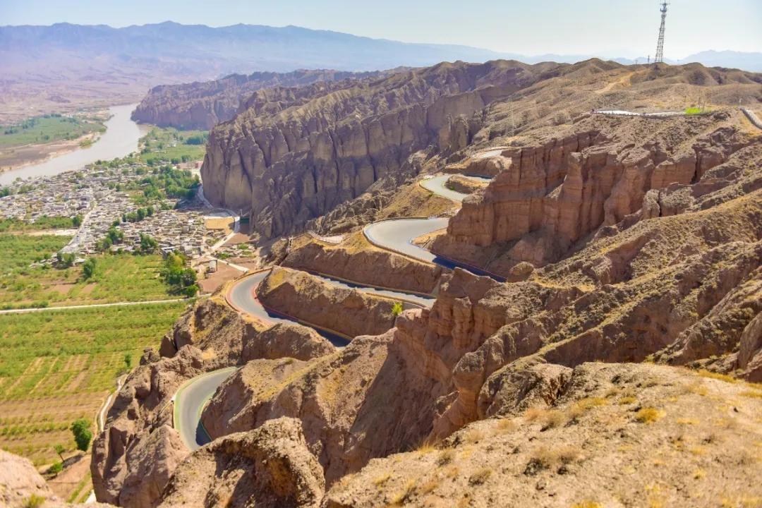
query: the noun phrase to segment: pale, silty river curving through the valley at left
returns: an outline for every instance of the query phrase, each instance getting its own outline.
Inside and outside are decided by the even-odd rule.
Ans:
[[[74,171],[94,161],[110,161],[112,158],[124,157],[130,152],[136,152],[138,139],[148,132],[149,127],[140,126],[130,120],[130,114],[135,107],[136,104],[110,107],[111,118],[106,122],[106,132],[101,134],[101,139],[90,147],[75,149],[73,152],[50,158],[40,164],[4,171],[0,173],[0,185],[11,184],[18,177],[26,179]]]

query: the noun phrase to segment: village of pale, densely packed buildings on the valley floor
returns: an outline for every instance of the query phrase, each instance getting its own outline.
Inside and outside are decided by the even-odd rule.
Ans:
[[[191,176],[190,170],[173,170],[183,171],[186,179]],[[141,182],[157,171],[126,161],[115,167],[95,164],[73,173],[17,181],[8,187],[10,194],[0,198],[0,219],[34,224],[43,218],[78,217],[78,229],[70,231],[72,241],[62,251],[79,258],[102,251],[101,241],[110,228],[123,238],[108,246],[111,251],[136,251],[141,235],[148,235],[164,254],[178,251],[191,260],[213,254],[213,247],[222,247],[221,241],[235,228],[232,213],[210,209],[198,196],[197,177],[187,188],[190,195],[146,202],[143,189],[150,184]]]

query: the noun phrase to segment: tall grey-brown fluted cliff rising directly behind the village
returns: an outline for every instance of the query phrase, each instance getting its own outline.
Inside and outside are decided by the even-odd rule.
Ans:
[[[205,193],[217,205],[251,211],[264,235],[298,230],[379,179],[404,180],[408,157],[420,149],[462,149],[462,136],[452,136],[458,117],[554,66],[443,63],[340,90],[313,87],[308,101],[289,97],[275,111],[252,105],[213,129],[202,168]]]

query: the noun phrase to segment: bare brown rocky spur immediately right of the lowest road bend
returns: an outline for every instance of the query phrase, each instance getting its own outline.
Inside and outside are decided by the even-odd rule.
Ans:
[[[408,369],[417,359],[403,356],[393,338],[392,331],[355,337],[310,362],[249,362],[219,388],[203,412],[204,427],[219,437],[299,418],[327,484],[369,458],[409,449],[431,426],[432,384]]]

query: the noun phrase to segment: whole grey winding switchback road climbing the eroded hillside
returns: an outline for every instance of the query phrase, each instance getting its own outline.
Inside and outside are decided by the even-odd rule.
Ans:
[[[445,187],[450,175],[438,175],[421,181],[421,187],[437,195],[447,197],[450,200],[461,202],[467,194],[456,192]],[[475,181],[489,181],[485,177],[469,177]],[[447,228],[447,218],[431,219],[390,219],[381,222],[375,222],[363,228],[363,234],[374,245],[379,248],[397,252],[408,257],[413,257],[427,263],[437,263],[445,267],[453,268],[456,266],[465,267],[472,272],[485,274],[482,270],[473,267],[467,267],[463,264],[457,264],[450,260],[444,260],[424,248],[418,247],[413,241],[423,235],[435,232],[438,229]],[[235,282],[226,294],[226,299],[233,308],[239,312],[245,313],[258,319],[265,324],[276,324],[280,322],[299,322],[296,318],[280,314],[273,309],[265,308],[257,299],[257,287],[264,280],[270,270],[262,270],[242,276]],[[415,293],[396,291],[394,289],[376,288],[363,286],[357,283],[351,283],[345,280],[339,280],[335,277],[325,276],[322,273],[312,273],[325,282],[345,288],[359,289],[362,292],[383,296],[386,298],[397,299],[403,302],[406,307],[418,306],[431,308],[434,304],[434,298],[422,296]],[[305,323],[302,323],[305,324]],[[335,345],[341,347],[348,343],[345,337],[341,337],[335,332],[311,326]],[[194,379],[187,381],[174,395],[174,427],[178,430],[185,445],[195,450],[210,442],[210,436],[204,430],[201,423],[201,411],[207,404],[207,401],[213,397],[219,385],[229,378],[235,372],[236,367],[219,369],[213,372],[199,375]]]

